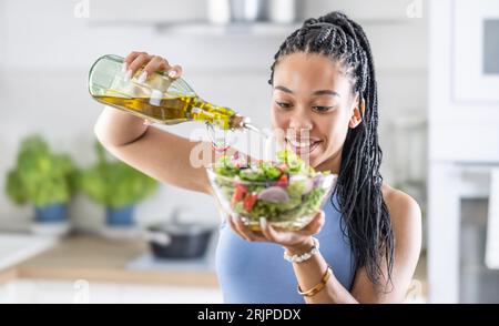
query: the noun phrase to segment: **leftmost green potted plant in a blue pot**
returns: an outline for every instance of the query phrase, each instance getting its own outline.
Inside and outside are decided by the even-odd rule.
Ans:
[[[7,195],[34,206],[34,232],[65,233],[67,203],[74,194],[77,169],[69,155],[54,153],[42,136],[21,142],[16,166],[8,172]]]

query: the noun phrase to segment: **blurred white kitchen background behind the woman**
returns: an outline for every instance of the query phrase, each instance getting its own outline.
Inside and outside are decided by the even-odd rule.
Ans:
[[[149,195],[125,196],[134,211],[118,207],[110,222],[109,205],[77,191],[64,221],[48,221],[61,207],[35,220],[31,201],[12,201],[27,187],[12,171],[32,171],[33,183],[45,177],[42,189],[61,196],[64,187],[50,184],[61,175],[47,177],[61,166],[84,171],[89,193],[103,187],[92,180],[102,105],[90,98],[86,78],[106,53],[163,55],[183,65],[202,98],[269,126],[274,53],[304,19],[333,10],[358,21],[371,43],[385,181],[422,208],[424,247],[407,302],[499,303],[493,0],[0,0],[0,302],[220,303],[220,216],[211,197],[150,185]],[[187,136],[196,128],[167,130]],[[30,166],[29,155],[41,165]],[[109,190],[116,197],[145,182],[125,170],[124,179],[130,183]]]

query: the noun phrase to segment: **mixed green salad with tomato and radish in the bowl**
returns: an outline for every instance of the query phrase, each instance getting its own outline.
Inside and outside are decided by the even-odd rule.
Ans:
[[[315,172],[287,149],[277,153],[276,162],[248,164],[237,153],[224,155],[208,169],[208,176],[225,208],[255,231],[261,216],[281,228],[303,228],[335,181],[335,175]]]

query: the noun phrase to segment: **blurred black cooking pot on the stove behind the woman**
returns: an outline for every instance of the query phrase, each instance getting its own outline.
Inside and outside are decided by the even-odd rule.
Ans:
[[[174,217],[149,226],[146,238],[156,258],[200,258],[206,254],[213,233],[213,226],[181,223]]]

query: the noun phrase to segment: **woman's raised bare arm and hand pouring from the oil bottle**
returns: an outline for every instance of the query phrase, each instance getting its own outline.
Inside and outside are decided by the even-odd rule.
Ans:
[[[171,65],[166,59],[145,52],[132,52],[126,55],[123,69],[128,71],[130,79],[143,69],[144,81],[155,72],[170,72],[171,78],[182,75],[182,67]],[[142,118],[113,108],[106,108],[102,112],[94,130],[98,140],[113,156],[135,170],[162,183],[212,193],[204,166],[191,162],[193,152],[201,152],[202,157],[200,155],[196,157],[205,160],[203,153],[214,151],[211,143],[193,142],[160,128],[149,128],[144,125]],[[206,160],[211,157],[215,155],[212,154]]]

